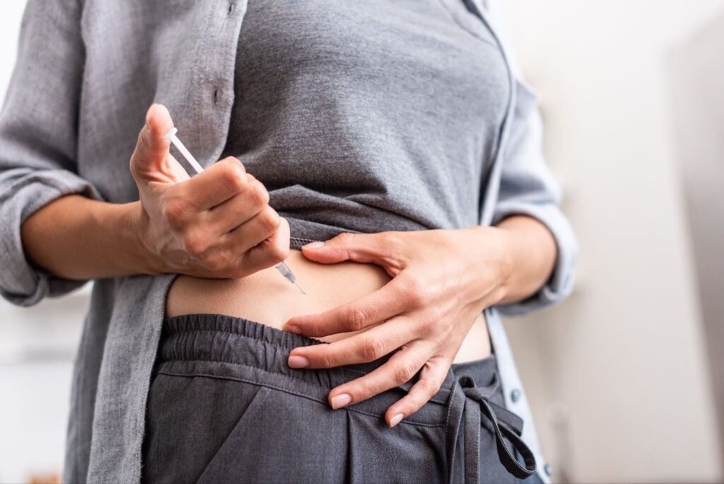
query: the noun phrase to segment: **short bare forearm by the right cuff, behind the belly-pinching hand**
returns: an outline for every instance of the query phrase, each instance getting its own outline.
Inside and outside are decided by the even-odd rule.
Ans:
[[[506,270],[502,275],[500,303],[521,301],[536,293],[550,278],[557,246],[542,222],[524,215],[502,220]]]

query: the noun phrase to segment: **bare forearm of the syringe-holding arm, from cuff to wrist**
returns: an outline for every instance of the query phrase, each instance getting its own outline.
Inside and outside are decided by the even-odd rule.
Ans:
[[[64,196],[28,217],[21,236],[38,267],[71,280],[156,273],[138,230],[140,202],[110,204]]]

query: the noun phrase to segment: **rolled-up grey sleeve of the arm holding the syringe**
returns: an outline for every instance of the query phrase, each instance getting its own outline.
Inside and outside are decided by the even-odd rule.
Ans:
[[[20,306],[85,283],[33,267],[20,238],[22,222],[61,196],[101,199],[75,162],[83,62],[77,0],[28,1],[0,112],[0,293]]]

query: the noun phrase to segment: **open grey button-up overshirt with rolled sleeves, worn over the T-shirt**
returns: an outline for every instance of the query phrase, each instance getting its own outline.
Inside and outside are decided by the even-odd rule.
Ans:
[[[440,17],[448,18],[451,25],[458,22],[463,30],[481,32],[480,21],[453,0],[395,4],[418,12],[432,8],[420,4],[435,1],[450,9],[450,17],[444,17],[442,10]],[[321,1],[304,3],[316,4],[324,7]],[[349,2],[350,9],[361,8],[361,4],[366,2]],[[496,4],[490,1],[489,7]],[[28,306],[80,285],[28,263],[20,224],[66,193],[114,203],[138,199],[128,159],[153,101],[169,107],[185,143],[202,164],[219,159],[235,101],[235,59],[246,7],[246,1],[28,1],[17,65],[0,113],[0,293],[4,298]],[[484,14],[487,20],[487,11]],[[404,31],[409,18],[401,15],[384,22],[390,25],[385,36],[390,36],[396,31],[394,25]],[[279,35],[316,36],[316,27],[312,23],[305,25],[306,30]],[[373,35],[376,33],[370,33]],[[499,43],[497,35],[491,38]],[[390,49],[399,48],[395,40],[389,38]],[[481,43],[480,52],[489,58],[491,46]],[[492,159],[480,160],[487,167],[481,173],[481,203],[470,202],[480,210],[480,225],[490,225],[508,214],[531,214],[550,228],[557,241],[555,273],[539,293],[520,304],[487,310],[506,404],[530,422],[525,393],[516,401],[510,398],[521,386],[497,312],[529,312],[563,299],[573,284],[577,246],[570,225],[557,208],[557,185],[542,158],[535,96],[515,72],[515,64],[505,55],[507,49],[503,52],[505,66],[513,68],[515,77],[509,78],[510,98],[499,147]],[[378,54],[368,53],[371,58]],[[411,70],[413,80],[415,72]],[[487,80],[479,82],[485,85]],[[415,113],[411,109],[403,125],[415,126]],[[359,115],[363,117],[363,113]],[[450,120],[441,118],[439,122]],[[361,127],[361,131],[365,129]],[[449,143],[434,138],[428,141],[433,146]],[[387,170],[384,157],[376,160],[371,170]],[[338,174],[327,169],[319,176],[333,186]],[[435,208],[435,183],[430,180],[430,186],[419,187],[430,199],[418,205],[417,222],[442,220],[442,212]],[[465,217],[468,220],[469,216]],[[303,230],[299,223],[292,235],[304,238]],[[75,366],[65,470],[68,482],[139,480],[151,367],[172,279],[172,275],[164,275],[96,281]],[[523,438],[537,448],[532,425],[525,426]]]

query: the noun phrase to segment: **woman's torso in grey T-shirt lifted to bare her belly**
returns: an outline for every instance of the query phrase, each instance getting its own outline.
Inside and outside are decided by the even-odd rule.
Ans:
[[[507,99],[500,51],[462,1],[250,1],[224,156],[266,185],[292,247],[342,231],[465,228],[479,220]],[[273,268],[180,277],[167,314],[281,327],[389,280],[379,267],[317,264],[300,251],[287,264],[306,295]],[[489,352],[481,314],[456,361]]]

